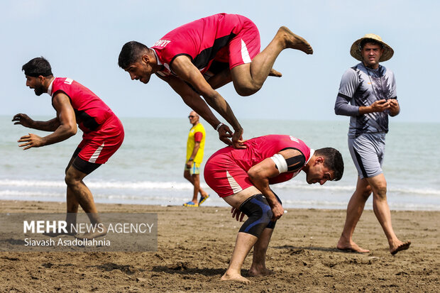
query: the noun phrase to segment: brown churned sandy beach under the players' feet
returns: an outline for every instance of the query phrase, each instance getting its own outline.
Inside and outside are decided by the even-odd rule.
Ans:
[[[275,275],[251,285],[223,282],[241,226],[228,208],[97,204],[99,212],[158,214],[158,250],[145,253],[0,253],[1,292],[439,292],[440,212],[392,211],[409,250],[390,255],[373,211],[354,240],[336,242],[344,210],[288,209],[277,222],[266,265]],[[0,201],[1,213],[62,213],[64,202]],[[242,275],[251,265],[248,255]]]

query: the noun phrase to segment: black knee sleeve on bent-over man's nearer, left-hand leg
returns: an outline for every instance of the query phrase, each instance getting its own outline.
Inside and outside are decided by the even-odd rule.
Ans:
[[[246,199],[241,204],[240,211],[246,214],[248,219],[243,223],[239,232],[248,233],[255,237],[259,237],[264,228],[268,227],[273,216],[268,201],[263,197],[263,194],[255,194]],[[275,223],[273,226],[275,226]]]

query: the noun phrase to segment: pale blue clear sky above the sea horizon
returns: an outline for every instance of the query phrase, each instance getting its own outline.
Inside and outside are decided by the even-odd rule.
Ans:
[[[57,77],[71,77],[103,99],[120,117],[182,117],[189,108],[158,77],[132,81],[117,65],[130,40],[153,45],[182,24],[215,13],[238,13],[258,26],[262,50],[280,26],[309,41],[313,55],[284,50],[252,96],[232,84],[218,90],[240,119],[335,121],[341,76],[358,63],[351,44],[366,33],[380,35],[395,54],[382,65],[395,72],[401,113],[394,121],[440,123],[436,90],[440,48],[440,1],[1,1],[0,115],[55,116],[50,96],[26,87],[21,66],[44,56]],[[437,60],[437,61],[436,61]],[[217,114],[220,118],[220,116]],[[224,119],[221,119],[224,120]]]

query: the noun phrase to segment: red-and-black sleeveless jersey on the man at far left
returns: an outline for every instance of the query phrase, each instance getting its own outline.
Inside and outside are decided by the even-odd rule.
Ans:
[[[84,133],[96,131],[107,119],[116,117],[104,101],[73,79],[55,77],[50,84],[49,94],[53,97],[57,92],[69,96],[79,129]]]

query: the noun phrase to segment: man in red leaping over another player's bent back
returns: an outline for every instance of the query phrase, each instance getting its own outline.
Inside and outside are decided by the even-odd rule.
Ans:
[[[236,148],[245,148],[243,128],[229,104],[215,89],[232,81],[241,96],[255,94],[268,75],[281,77],[280,72],[272,67],[286,48],[313,53],[304,38],[285,26],[260,52],[260,34],[250,19],[238,14],[219,13],[170,31],[151,48],[136,41],[126,43],[119,54],[119,66],[130,74],[131,79],[145,84],[155,73],[170,84],[185,104],[219,131],[220,140]],[[220,123],[200,95],[226,119],[234,133]]]

